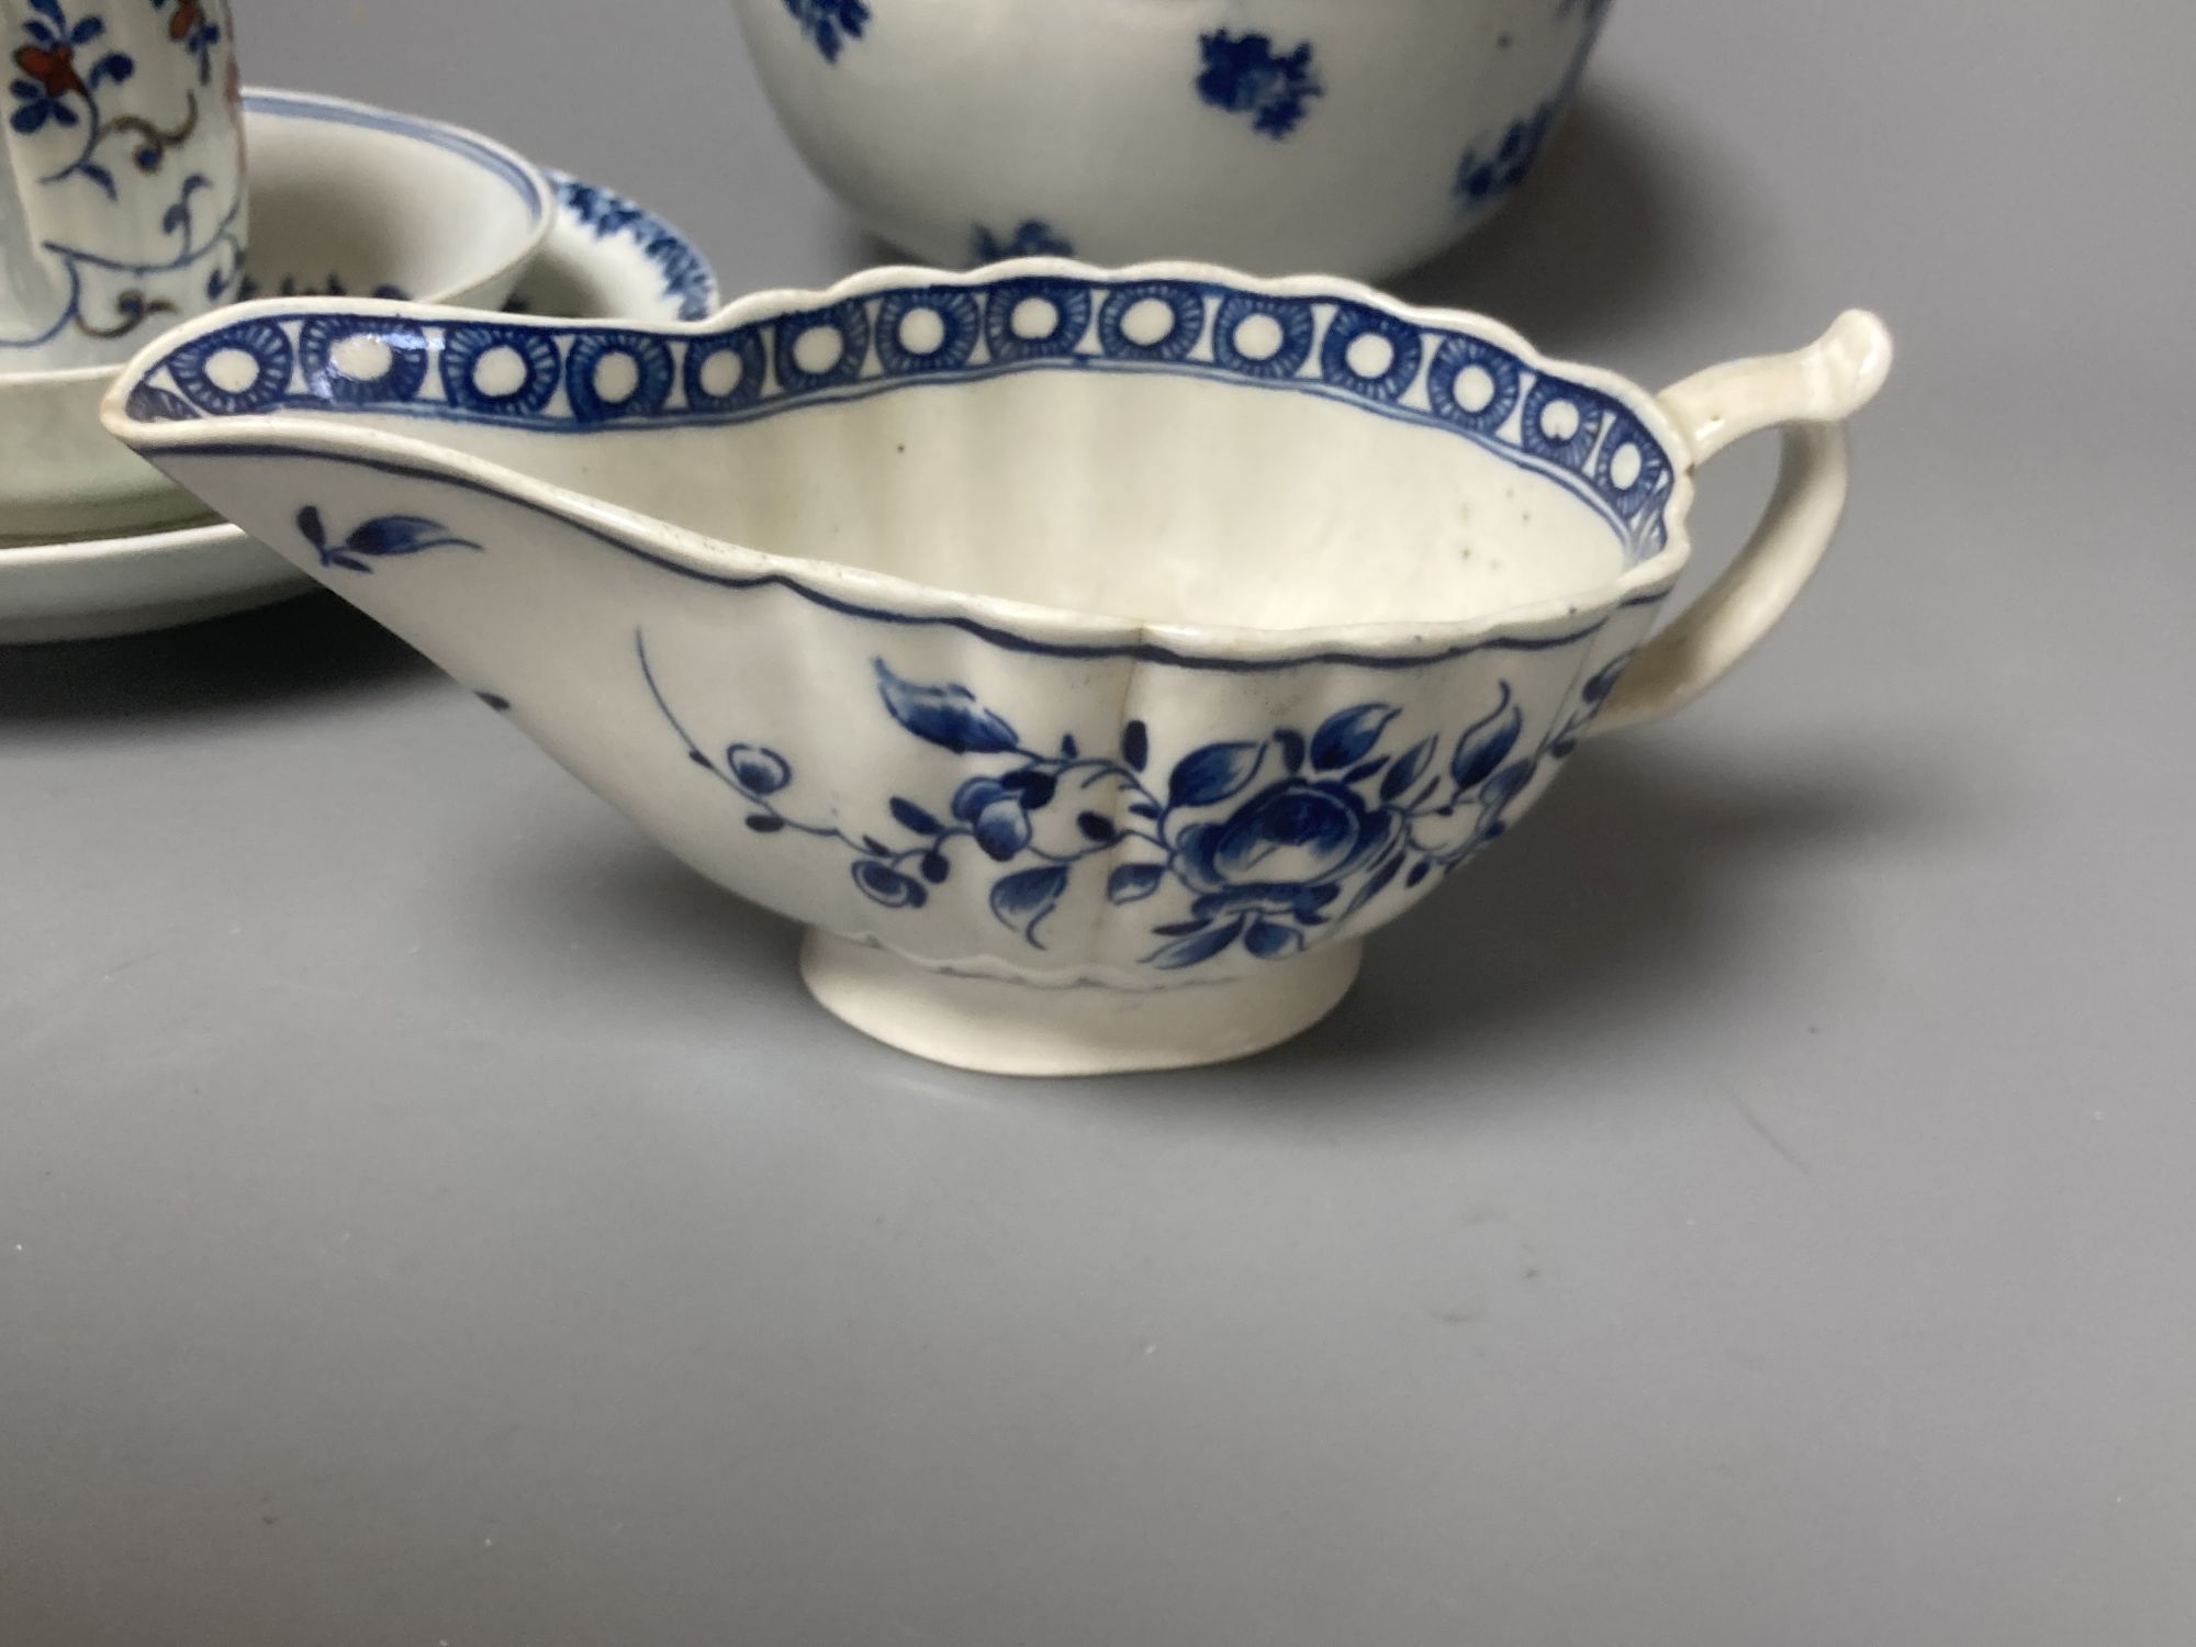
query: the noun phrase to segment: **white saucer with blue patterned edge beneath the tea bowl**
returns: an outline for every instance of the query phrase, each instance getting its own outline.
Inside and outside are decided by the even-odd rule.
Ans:
[[[571,318],[701,321],[716,310],[709,261],[654,213],[549,173],[558,222],[518,281],[514,310]],[[264,292],[327,290],[340,270],[259,274]],[[371,290],[356,281],[354,290]],[[94,641],[270,606],[316,584],[237,527],[0,547],[0,646]]]

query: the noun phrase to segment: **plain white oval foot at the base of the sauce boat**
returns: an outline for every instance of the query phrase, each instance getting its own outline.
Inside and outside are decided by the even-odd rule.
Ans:
[[[918,1058],[997,1076],[1107,1076],[1223,1063],[1326,1017],[1362,944],[1324,944],[1247,977],[1166,990],[1043,988],[933,973],[810,929],[802,979],[834,1017]]]

